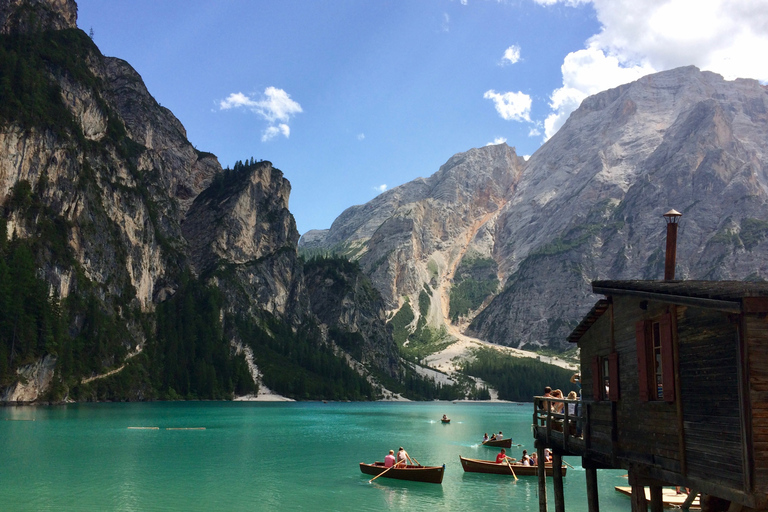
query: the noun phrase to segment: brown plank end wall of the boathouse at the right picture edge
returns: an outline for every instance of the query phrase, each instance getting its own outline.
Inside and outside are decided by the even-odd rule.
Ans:
[[[768,492],[768,318],[746,315],[755,490]]]

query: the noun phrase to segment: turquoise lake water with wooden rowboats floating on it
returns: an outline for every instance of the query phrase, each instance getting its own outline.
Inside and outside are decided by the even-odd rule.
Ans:
[[[484,432],[533,450],[531,404],[163,402],[0,407],[0,510],[538,511],[536,477],[464,473]],[[447,414],[451,423],[443,425]],[[34,420],[34,421],[31,421]],[[159,427],[136,430],[128,427]],[[166,430],[205,427],[205,430]],[[360,472],[400,446],[446,465],[442,485]],[[566,511],[586,511],[580,459]],[[628,511],[623,471],[598,471],[600,509]],[[551,479],[549,508],[554,510]]]

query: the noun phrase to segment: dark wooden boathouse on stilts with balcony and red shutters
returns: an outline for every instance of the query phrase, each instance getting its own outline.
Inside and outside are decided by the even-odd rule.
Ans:
[[[647,510],[649,487],[660,512],[663,486],[719,502],[712,510],[768,509],[768,283],[594,281],[592,290],[605,298],[568,338],[580,348],[582,399],[556,413],[568,401],[535,397],[539,457],[550,448],[555,468],[582,457],[590,511],[601,468],[627,470],[632,511]],[[553,482],[563,512],[562,476]],[[544,486],[540,477],[542,512]]]

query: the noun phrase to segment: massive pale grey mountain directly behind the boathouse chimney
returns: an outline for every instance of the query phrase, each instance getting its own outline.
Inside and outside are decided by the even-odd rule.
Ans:
[[[508,280],[471,332],[564,343],[596,299],[590,281],[663,277],[670,208],[684,213],[678,278],[765,279],[766,112],[758,82],[694,67],[587,98],[499,218]]]

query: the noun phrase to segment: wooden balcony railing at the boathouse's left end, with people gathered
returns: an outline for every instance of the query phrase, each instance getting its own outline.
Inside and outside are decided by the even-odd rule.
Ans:
[[[584,454],[585,407],[581,400],[533,397],[533,436],[566,453]]]

